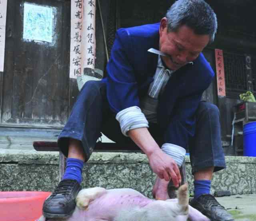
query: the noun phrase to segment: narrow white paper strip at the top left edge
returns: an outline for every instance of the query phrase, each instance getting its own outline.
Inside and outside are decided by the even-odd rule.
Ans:
[[[0,0],[0,71],[4,71],[6,9],[7,0]]]

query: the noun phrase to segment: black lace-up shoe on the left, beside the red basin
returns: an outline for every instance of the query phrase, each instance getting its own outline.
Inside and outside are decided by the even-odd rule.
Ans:
[[[44,201],[44,217],[70,217],[76,207],[76,195],[80,190],[80,184],[76,180],[62,180],[52,194]]]

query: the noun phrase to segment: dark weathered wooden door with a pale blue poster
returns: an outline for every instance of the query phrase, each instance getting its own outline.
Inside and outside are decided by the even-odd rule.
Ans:
[[[25,4],[32,9],[37,6],[38,14],[29,12],[37,18],[30,25],[24,23],[29,14]],[[38,7],[50,8],[52,13],[50,41],[33,39],[32,26],[44,23],[38,18],[42,16]],[[76,82],[69,79],[69,45],[70,1],[8,0],[5,67],[0,78],[0,126],[64,126],[78,93]]]

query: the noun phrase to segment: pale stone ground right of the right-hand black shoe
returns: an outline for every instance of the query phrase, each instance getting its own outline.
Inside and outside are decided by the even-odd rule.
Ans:
[[[256,221],[256,194],[231,195],[216,198],[236,221]]]

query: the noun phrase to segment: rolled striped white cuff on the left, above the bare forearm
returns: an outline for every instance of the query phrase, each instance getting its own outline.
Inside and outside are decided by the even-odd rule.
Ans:
[[[116,120],[120,123],[120,128],[124,136],[132,129],[148,127],[148,120],[137,106],[128,107],[116,114]]]

